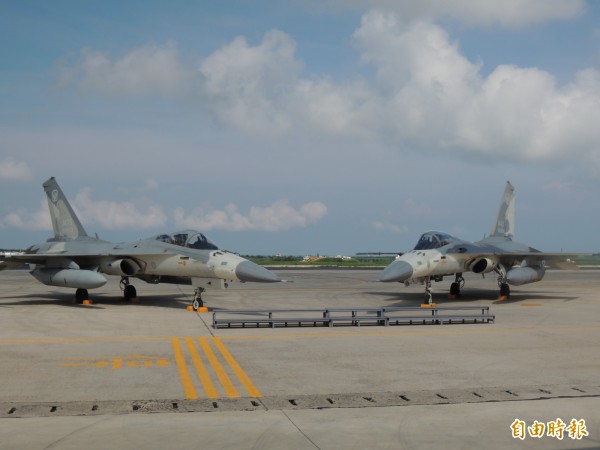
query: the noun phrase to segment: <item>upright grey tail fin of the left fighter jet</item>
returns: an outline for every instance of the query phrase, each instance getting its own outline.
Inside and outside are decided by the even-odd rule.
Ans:
[[[54,238],[76,239],[78,237],[87,236],[81,222],[75,215],[73,208],[71,208],[71,205],[54,177],[46,181],[43,186],[46,196],[48,197],[48,207],[50,208],[52,228],[54,228]]]

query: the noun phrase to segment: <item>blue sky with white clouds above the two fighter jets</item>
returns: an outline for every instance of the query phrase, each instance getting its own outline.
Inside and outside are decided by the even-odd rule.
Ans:
[[[600,5],[3,1],[0,248],[200,229],[244,254],[488,233],[600,251]]]

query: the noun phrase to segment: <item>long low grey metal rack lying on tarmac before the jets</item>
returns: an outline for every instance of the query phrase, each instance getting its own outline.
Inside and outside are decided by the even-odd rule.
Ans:
[[[275,328],[343,325],[430,325],[490,323],[489,306],[418,306],[390,308],[323,308],[221,310],[213,312],[213,328]]]

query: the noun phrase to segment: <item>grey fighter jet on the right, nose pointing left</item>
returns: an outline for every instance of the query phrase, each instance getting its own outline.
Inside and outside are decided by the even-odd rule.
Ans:
[[[515,224],[514,188],[507,182],[496,221],[490,236],[468,242],[441,231],[424,233],[411,251],[400,254],[379,275],[379,281],[397,281],[408,286],[414,282],[425,285],[425,301],[431,305],[431,281],[442,281],[454,275],[450,296],[458,297],[464,287],[464,272],[495,273],[498,276],[500,299],[510,296],[510,287],[540,281],[546,263],[553,267],[577,269],[569,259],[579,254],[543,253],[512,240]]]

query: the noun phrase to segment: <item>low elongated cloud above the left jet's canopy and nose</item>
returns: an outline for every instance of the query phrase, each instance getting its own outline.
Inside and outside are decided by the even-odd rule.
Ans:
[[[271,206],[253,206],[247,214],[238,211],[230,203],[223,210],[206,211],[196,209],[186,214],[183,208],[175,209],[175,222],[180,228],[201,230],[260,230],[281,231],[295,227],[306,227],[321,220],[327,207],[321,202],[309,202],[295,209],[287,200],[278,200]]]

